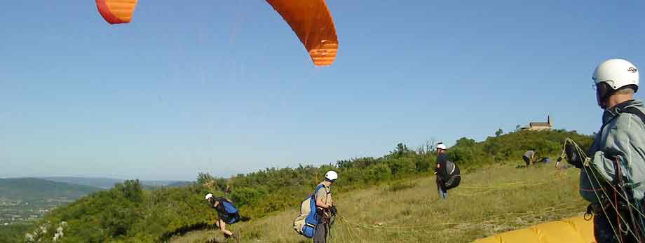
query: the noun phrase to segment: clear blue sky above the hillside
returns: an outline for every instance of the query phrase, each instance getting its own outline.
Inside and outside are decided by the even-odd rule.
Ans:
[[[313,67],[265,1],[95,1],[0,10],[0,177],[195,179],[480,141],[543,121],[600,125],[591,76],[645,67],[643,1],[327,0]],[[637,95],[641,97],[641,95]]]

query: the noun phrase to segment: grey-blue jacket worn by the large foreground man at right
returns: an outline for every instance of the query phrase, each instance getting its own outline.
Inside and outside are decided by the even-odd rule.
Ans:
[[[639,116],[624,112],[628,107],[645,113],[643,102],[634,99],[606,109],[602,115],[602,128],[588,153],[591,168],[580,170],[580,195],[589,202],[600,203],[599,197],[604,195],[601,188],[613,195],[609,184],[616,185],[616,161],[625,186],[633,190],[634,199],[641,200],[644,196],[645,124]]]

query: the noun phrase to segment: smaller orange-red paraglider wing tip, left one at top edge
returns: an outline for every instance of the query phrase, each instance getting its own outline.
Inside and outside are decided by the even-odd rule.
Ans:
[[[132,20],[137,0],[96,0],[96,7],[110,24],[125,24]]]

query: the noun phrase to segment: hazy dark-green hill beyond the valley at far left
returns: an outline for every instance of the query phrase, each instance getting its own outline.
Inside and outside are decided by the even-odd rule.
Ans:
[[[61,197],[76,200],[97,190],[102,189],[46,179],[0,179],[0,200],[30,202]]]

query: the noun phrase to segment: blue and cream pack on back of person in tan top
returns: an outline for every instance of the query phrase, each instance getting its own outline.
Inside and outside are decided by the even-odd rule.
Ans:
[[[313,194],[302,201],[300,204],[300,215],[297,216],[293,222],[294,230],[307,238],[313,238],[315,225],[318,225],[318,222],[320,221],[320,216],[316,214],[315,194],[322,187],[322,185],[318,185],[313,191]]]

